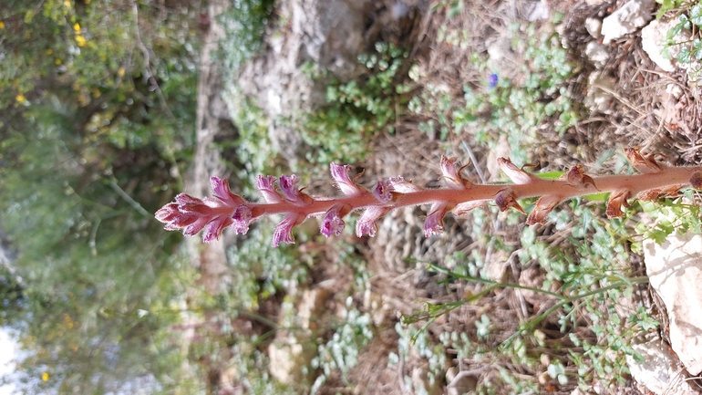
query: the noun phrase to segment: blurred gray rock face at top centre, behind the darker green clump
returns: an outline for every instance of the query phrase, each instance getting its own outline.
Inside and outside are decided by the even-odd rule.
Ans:
[[[275,151],[291,163],[304,157],[295,123],[300,114],[325,103],[329,79],[310,78],[305,68],[328,71],[341,82],[359,77],[366,68],[359,64],[358,55],[377,41],[388,41],[388,30],[406,35],[419,3],[289,0],[277,4],[278,26],[263,38],[263,53],[248,61],[235,81],[270,120],[269,138]]]

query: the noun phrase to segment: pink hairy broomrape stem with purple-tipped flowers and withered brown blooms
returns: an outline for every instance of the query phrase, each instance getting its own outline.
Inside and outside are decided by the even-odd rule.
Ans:
[[[543,180],[525,172],[509,159],[500,158],[498,163],[511,184],[475,184],[461,174],[465,168],[458,167],[456,159],[441,157],[440,168],[446,188],[425,189],[406,181],[402,177],[378,181],[371,190],[358,185],[360,174],[349,175],[350,165],[331,163],[330,170],[342,197],[313,197],[299,188],[296,175],[276,178],[258,175],[256,189],[265,203],[251,203],[233,194],[229,182],[212,177],[214,197],[198,199],[187,193],[175,197],[156,212],[156,219],[165,223],[167,230],[180,230],[191,236],[202,229],[205,243],[217,240],[226,227],[237,234],[245,234],[253,221],[267,214],[284,214],[284,219],[275,228],[273,246],[281,243],[294,244],[293,228],[311,216],[321,216],[320,232],[325,236],[339,235],[345,227],[344,217],[348,213],[363,210],[356,221],[356,235],[375,236],[377,220],[398,207],[431,204],[424,223],[424,234],[428,237],[443,230],[444,216],[455,215],[490,201],[501,211],[513,208],[524,210],[517,202],[522,198],[539,197],[526,223],[543,223],[555,206],[564,200],[593,193],[610,192],[607,203],[609,218],[624,215],[622,207],[629,207],[632,198],[655,201],[659,197],[675,194],[688,185],[702,189],[702,167],[667,167],[658,163],[655,155],[644,155],[635,148],[625,149],[626,158],[641,174],[591,177],[582,165],[574,166],[558,180]]]

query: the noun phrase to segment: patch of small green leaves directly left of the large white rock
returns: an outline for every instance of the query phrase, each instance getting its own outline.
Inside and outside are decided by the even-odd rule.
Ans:
[[[666,207],[676,205],[666,204],[663,207],[662,210],[665,211]],[[555,307],[546,313],[530,317],[499,348],[489,342],[491,330],[495,326],[490,317],[485,315],[475,320],[474,337],[465,333],[460,336],[457,333],[447,333],[439,337],[444,348],[458,352],[459,359],[496,363],[495,369],[499,370],[501,382],[495,381],[494,376],[490,375],[492,379],[479,382],[477,393],[492,393],[498,388],[503,389],[505,385],[517,392],[530,389],[540,391],[537,377],[531,381],[524,380],[522,376],[515,375],[511,368],[499,363],[504,359],[511,360],[509,366],[517,364],[523,369],[542,370],[543,374],[561,386],[573,388],[577,385],[586,390],[592,386],[593,380],[600,381],[605,386],[612,382],[622,384],[628,373],[625,358],[642,358],[631,347],[631,340],[642,331],[655,329],[658,325],[656,320],[648,315],[644,307],[639,307],[630,317],[620,317],[614,307],[622,297],[631,297],[635,285],[645,282],[645,277],[632,278],[626,275],[626,263],[630,260],[626,246],[631,240],[630,229],[625,226],[626,219],[605,221],[600,219],[598,210],[596,203],[574,199],[569,209],[551,213],[549,223],[552,223],[554,232],[567,235],[558,245],[548,243],[547,235],[538,235],[534,228],[527,227],[522,231],[521,245],[515,256],[521,265],[541,267],[544,272],[542,285],[532,290],[546,296],[558,296],[554,299]],[[672,210],[676,210],[677,215],[692,216],[685,207]],[[697,220],[688,221],[698,223],[699,213]],[[493,245],[508,253],[512,252],[512,247],[507,244]],[[519,284],[496,283],[488,279],[479,255],[457,253],[446,265],[454,269],[447,270],[436,265],[430,265],[430,269],[447,275],[448,281],[461,279],[484,283],[487,288],[464,300],[429,305],[426,312],[404,317],[403,322],[410,327],[418,320],[429,317],[431,321],[463,305],[476,303],[480,298],[489,296],[493,289],[523,289]],[[549,291],[555,288],[555,293]],[[552,359],[548,369],[545,369],[535,348],[553,347],[545,345],[544,334],[539,329],[539,324],[548,315],[557,317],[560,330],[568,335],[569,341],[559,346],[563,351],[561,359]],[[592,332],[575,330],[576,327],[583,327],[583,317],[593,323],[589,326]],[[428,324],[424,325],[426,327]],[[418,336],[415,335],[415,338]]]

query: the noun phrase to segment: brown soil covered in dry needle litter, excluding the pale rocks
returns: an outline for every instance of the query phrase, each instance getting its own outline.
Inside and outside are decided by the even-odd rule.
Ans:
[[[383,2],[378,2],[383,3]],[[387,3],[387,2],[385,2]],[[417,2],[415,2],[417,3]],[[532,13],[536,2],[499,1],[466,2],[459,16],[451,18],[446,16],[445,10],[439,8],[437,12],[429,12],[432,5],[418,2],[418,16],[412,25],[412,35],[404,35],[411,48],[411,61],[416,62],[421,68],[421,74],[426,78],[423,85],[433,84],[446,87],[453,99],[462,99],[464,85],[475,84],[484,80],[486,76],[477,74],[475,69],[469,67],[470,55],[473,53],[486,53],[490,46],[501,40],[511,40],[507,28],[512,22],[525,23]],[[594,89],[588,83],[588,78],[595,70],[600,70],[608,81],[609,97],[604,109],[590,112],[589,117],[581,120],[568,130],[563,136],[549,128],[544,128],[541,140],[532,148],[532,161],[550,168],[567,168],[573,164],[582,163],[585,167],[591,166],[598,160],[599,155],[608,149],[624,146],[641,146],[647,151],[656,151],[666,155],[666,160],[671,163],[685,164],[699,162],[702,151],[699,150],[699,113],[700,105],[697,100],[698,88],[690,87],[684,70],[664,72],[656,68],[641,47],[640,31],[614,40],[608,45],[610,57],[604,64],[595,67],[588,60],[586,47],[592,42],[601,42],[602,39],[588,33],[585,20],[589,17],[602,19],[625,4],[625,1],[544,1],[548,6],[549,15],[563,13],[561,36],[563,44],[569,48],[569,56],[574,64],[578,65],[578,72],[573,78],[570,90],[576,100],[584,101],[589,90]],[[538,22],[540,28],[548,28],[544,22]],[[445,41],[439,41],[439,29],[449,26],[449,29],[468,32],[470,39],[467,46],[456,47]],[[387,32],[386,32],[387,33]],[[380,34],[380,33],[378,33]],[[402,44],[402,43],[400,43]],[[503,58],[503,77],[520,78],[513,73],[511,62],[519,61],[519,53],[511,53],[514,58]],[[681,89],[682,94],[673,101],[666,94],[666,87],[674,84]],[[221,84],[220,84],[221,85]],[[202,87],[201,87],[202,88]],[[205,89],[216,89],[217,84]],[[221,88],[221,87],[219,87]],[[202,92],[201,92],[202,93]],[[207,107],[206,100],[212,100],[212,95],[202,103]],[[215,100],[216,101],[216,100]],[[673,111],[670,115],[661,115],[662,111]],[[210,111],[212,113],[212,111]],[[217,116],[212,115],[211,116]],[[202,122],[206,123],[207,116]],[[419,185],[435,185],[438,178],[438,158],[441,154],[462,152],[467,161],[465,145],[472,146],[470,132],[450,134],[448,140],[432,140],[425,132],[418,130],[420,117],[407,116],[397,120],[396,131],[393,134],[379,133],[372,141],[372,154],[366,161],[358,163],[366,169],[370,179],[387,178],[402,174],[407,179],[412,179]],[[202,127],[201,129],[206,129]],[[206,134],[202,139],[208,139]],[[477,177],[478,168],[490,175],[494,172],[490,164],[495,152],[488,152],[475,148],[472,152],[476,161],[467,170]],[[204,155],[204,154],[203,154]],[[206,157],[203,156],[203,158]],[[217,159],[210,157],[210,163]],[[209,172],[207,169],[217,167],[202,164],[199,167],[201,177]],[[606,172],[608,169],[603,169]],[[492,174],[494,175],[494,174]],[[494,265],[495,270],[503,275],[506,281],[519,282],[522,285],[541,286],[541,276],[537,268],[522,266],[514,256],[504,255],[491,244],[483,244],[483,238],[476,234],[471,224],[471,216],[454,220],[447,219],[446,232],[438,237],[426,239],[422,234],[421,209],[407,209],[391,213],[379,224],[378,235],[375,239],[357,245],[356,254],[361,255],[366,262],[366,268],[373,273],[369,280],[369,295],[357,296],[355,306],[373,314],[377,333],[369,346],[359,356],[359,363],[346,378],[352,383],[354,390],[348,390],[341,377],[336,376],[327,380],[322,389],[324,393],[354,392],[354,393],[412,393],[412,381],[428,384],[428,362],[416,354],[408,355],[401,359],[397,365],[388,367],[388,354],[398,352],[398,336],[394,329],[400,315],[410,316],[421,311],[424,303],[446,303],[459,300],[464,296],[480,292],[480,286],[468,283],[452,284],[450,286],[438,284],[439,276],[429,273],[424,262],[443,263],[445,259],[455,252],[470,255],[477,251],[485,258],[487,265]],[[550,229],[540,229],[543,234]],[[511,225],[503,218],[495,216],[486,220],[480,232],[500,235],[507,244],[518,244],[521,225]],[[556,240],[557,234],[552,239]],[[337,300],[335,293],[343,294],[342,290],[352,286],[353,274],[349,268],[339,268],[336,265],[338,254],[335,245],[343,241],[330,241],[321,245],[305,245],[304,249],[322,250],[323,256],[318,260],[313,271],[314,281],[308,285],[305,297],[311,298],[308,302],[314,308],[312,311],[318,315],[322,322],[333,318],[345,303]],[[226,275],[226,268],[218,265],[222,260],[224,244],[211,244],[206,250],[199,247],[200,255],[197,257],[201,267],[202,282],[208,289],[217,288],[216,283],[222,275]],[[636,257],[632,265],[633,273],[643,274],[644,268],[640,257]],[[329,284],[333,284],[329,288]],[[328,292],[333,289],[333,292]],[[320,291],[322,290],[322,291]],[[314,292],[313,292],[314,291]],[[640,303],[651,306],[652,296],[647,288],[640,290]],[[367,299],[367,300],[364,300]],[[374,304],[368,304],[368,300]],[[475,336],[475,321],[481,315],[488,315],[496,323],[496,329],[490,338],[490,344],[497,346],[502,340],[509,337],[518,329],[518,322],[527,316],[532,307],[550,303],[548,298],[539,295],[518,295],[513,292],[494,293],[481,299],[480,304],[465,305],[444,317],[440,317],[434,324],[427,328],[428,337],[438,339],[444,332],[459,331]],[[371,307],[371,305],[373,307]],[[529,308],[527,308],[529,306]],[[324,307],[324,308],[322,308]],[[528,311],[529,310],[529,311]],[[271,308],[273,315],[277,309]],[[665,315],[665,312],[662,313]],[[277,319],[276,317],[271,317]],[[546,322],[542,331],[547,336],[547,341],[557,343],[565,341],[554,323]],[[286,334],[281,337],[287,336]],[[556,358],[557,353],[553,353]],[[273,356],[272,356],[273,357]],[[285,355],[278,355],[280,359]],[[281,362],[281,361],[277,361]],[[277,363],[275,360],[273,363]],[[505,369],[516,369],[524,377],[533,377],[534,372],[518,371],[509,361],[497,361]],[[281,362],[282,363],[282,362]],[[449,355],[446,366],[447,371],[456,369],[468,370],[470,378],[475,380],[497,379],[497,369],[490,369],[485,363],[477,360],[458,360],[455,355]],[[216,367],[214,370],[217,370]],[[449,378],[433,386],[434,393],[447,391],[446,385]],[[215,380],[216,381],[216,380]],[[224,388],[224,387],[222,387]],[[573,392],[573,385],[557,386],[546,385],[544,389],[551,393],[577,393]],[[581,392],[582,393],[582,392]],[[600,392],[598,392],[600,393]],[[625,385],[604,390],[604,393],[647,393],[646,389],[638,386],[634,380],[629,379]]]

